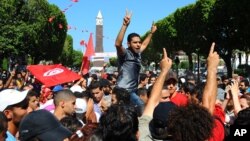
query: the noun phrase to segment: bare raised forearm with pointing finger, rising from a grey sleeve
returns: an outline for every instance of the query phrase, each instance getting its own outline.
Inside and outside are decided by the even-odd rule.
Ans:
[[[169,69],[171,68],[171,66],[172,66],[172,60],[168,58],[167,52],[165,48],[163,48],[163,58],[160,62],[161,73],[153,86],[151,97],[148,100],[148,103],[144,109],[143,115],[153,117],[154,109],[159,103],[159,99],[161,97],[161,90],[162,90],[165,78],[167,76],[167,73]]]

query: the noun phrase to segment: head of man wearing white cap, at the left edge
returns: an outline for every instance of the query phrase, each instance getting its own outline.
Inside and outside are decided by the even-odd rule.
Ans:
[[[22,118],[27,114],[27,93],[28,91],[20,92],[14,89],[5,89],[0,92],[0,111],[5,114],[8,122],[17,128]]]

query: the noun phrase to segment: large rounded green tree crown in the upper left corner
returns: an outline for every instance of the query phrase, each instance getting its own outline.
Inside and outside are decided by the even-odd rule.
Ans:
[[[0,50],[4,56],[25,56],[57,62],[67,32],[64,14],[46,0],[1,0]],[[48,19],[54,17],[52,22]],[[59,27],[62,25],[62,28]]]

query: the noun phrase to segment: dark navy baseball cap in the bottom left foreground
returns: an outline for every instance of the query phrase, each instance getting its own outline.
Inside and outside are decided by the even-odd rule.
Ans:
[[[72,132],[65,128],[56,117],[47,110],[33,111],[25,116],[19,126],[21,141],[37,137],[42,141],[62,141],[70,138]]]

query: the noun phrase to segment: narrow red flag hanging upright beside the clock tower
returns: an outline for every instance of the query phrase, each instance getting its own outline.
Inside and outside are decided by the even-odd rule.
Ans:
[[[81,66],[81,71],[83,75],[89,72],[90,57],[95,54],[92,33],[90,33],[88,45],[86,47],[87,49],[85,51],[85,55],[82,57]]]

